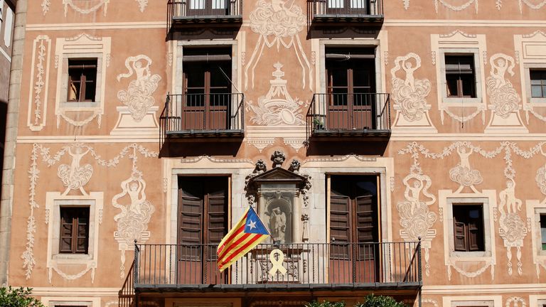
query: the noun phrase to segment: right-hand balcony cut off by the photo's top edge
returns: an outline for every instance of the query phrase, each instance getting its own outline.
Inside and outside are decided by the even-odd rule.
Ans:
[[[380,26],[383,23],[383,0],[307,0],[309,28],[360,23]]]

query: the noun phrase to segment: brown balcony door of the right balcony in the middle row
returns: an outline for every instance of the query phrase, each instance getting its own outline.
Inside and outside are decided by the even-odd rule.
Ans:
[[[326,129],[375,128],[375,60],[367,53],[326,51]]]

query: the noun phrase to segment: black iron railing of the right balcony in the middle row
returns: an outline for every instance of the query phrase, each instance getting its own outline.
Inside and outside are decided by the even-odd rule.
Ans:
[[[314,94],[306,115],[307,136],[326,131],[390,131],[390,95]]]

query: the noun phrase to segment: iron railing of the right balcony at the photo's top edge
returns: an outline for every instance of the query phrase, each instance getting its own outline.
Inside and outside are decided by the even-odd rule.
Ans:
[[[382,16],[383,0],[307,0],[309,20],[314,16]]]

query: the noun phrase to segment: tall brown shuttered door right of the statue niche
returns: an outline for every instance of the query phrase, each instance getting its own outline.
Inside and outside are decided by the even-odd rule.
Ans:
[[[378,203],[377,176],[330,177],[331,284],[378,281]]]

